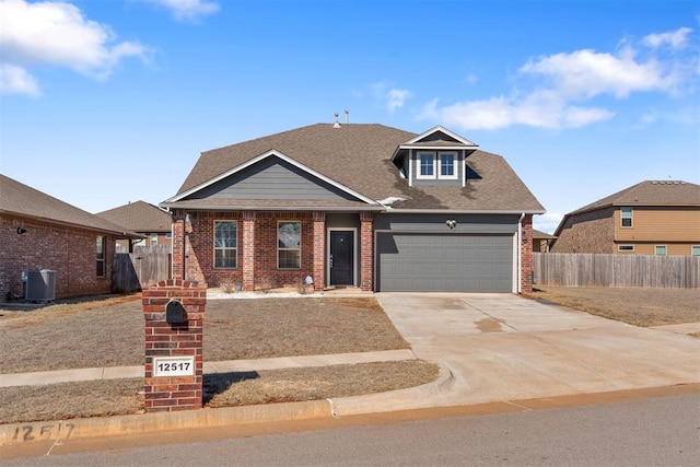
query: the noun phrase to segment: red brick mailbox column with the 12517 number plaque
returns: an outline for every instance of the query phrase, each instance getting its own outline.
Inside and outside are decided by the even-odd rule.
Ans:
[[[143,291],[147,412],[201,409],[207,288],[182,279]]]

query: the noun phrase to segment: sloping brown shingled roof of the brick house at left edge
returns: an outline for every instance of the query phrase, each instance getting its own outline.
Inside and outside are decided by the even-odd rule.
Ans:
[[[114,234],[124,238],[140,235],[88,211],[0,174],[0,214]]]

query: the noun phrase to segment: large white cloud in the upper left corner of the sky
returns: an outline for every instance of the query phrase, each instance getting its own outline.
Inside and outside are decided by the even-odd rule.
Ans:
[[[117,43],[109,26],[85,19],[70,3],[0,0],[0,63],[13,67],[13,75],[24,77],[34,86],[36,80],[27,71],[34,65],[66,67],[105,79],[121,59],[145,60],[148,55],[139,43]]]

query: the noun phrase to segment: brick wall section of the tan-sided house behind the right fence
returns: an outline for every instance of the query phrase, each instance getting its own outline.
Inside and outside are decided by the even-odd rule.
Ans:
[[[570,215],[551,253],[615,253],[615,209]]]

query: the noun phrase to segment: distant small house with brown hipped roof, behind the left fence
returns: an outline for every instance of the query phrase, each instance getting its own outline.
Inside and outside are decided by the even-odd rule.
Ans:
[[[131,232],[143,235],[143,238],[117,241],[117,253],[130,253],[135,246],[172,245],[171,213],[158,206],[144,201],[128,205],[107,211],[97,212],[98,217],[117,225],[122,225]]]

